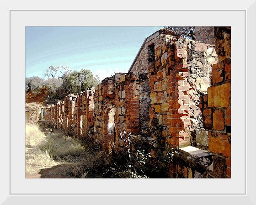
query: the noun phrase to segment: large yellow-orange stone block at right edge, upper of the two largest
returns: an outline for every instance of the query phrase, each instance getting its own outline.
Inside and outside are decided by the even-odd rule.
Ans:
[[[208,107],[228,107],[230,105],[230,83],[208,88]]]

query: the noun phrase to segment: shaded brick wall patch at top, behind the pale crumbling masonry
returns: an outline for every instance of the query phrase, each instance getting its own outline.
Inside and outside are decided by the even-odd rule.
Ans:
[[[197,41],[214,45],[214,26],[195,26],[195,37]]]

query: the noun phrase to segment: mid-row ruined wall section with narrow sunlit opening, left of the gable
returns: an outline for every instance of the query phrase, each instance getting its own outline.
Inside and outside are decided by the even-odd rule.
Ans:
[[[94,95],[94,131],[106,150],[122,131],[139,133],[139,75],[118,73],[102,80]]]

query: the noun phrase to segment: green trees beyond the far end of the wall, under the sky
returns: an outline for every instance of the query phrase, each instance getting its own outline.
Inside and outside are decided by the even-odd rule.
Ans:
[[[94,77],[90,70],[72,72],[68,66],[51,65],[45,76],[48,79],[43,80],[37,76],[26,78],[26,93],[46,95],[45,104],[56,104],[71,93],[76,95],[100,83],[99,78]]]

